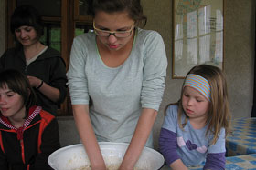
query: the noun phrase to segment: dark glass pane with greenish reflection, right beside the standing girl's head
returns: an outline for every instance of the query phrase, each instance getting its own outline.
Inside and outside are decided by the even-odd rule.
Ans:
[[[60,52],[61,50],[61,30],[60,25],[46,24],[44,27],[44,35],[40,41],[44,45],[48,45]]]

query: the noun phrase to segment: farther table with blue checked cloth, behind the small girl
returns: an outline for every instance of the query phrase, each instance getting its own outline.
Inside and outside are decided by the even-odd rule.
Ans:
[[[226,156],[256,154],[256,118],[240,118],[231,122],[232,135],[227,136]]]

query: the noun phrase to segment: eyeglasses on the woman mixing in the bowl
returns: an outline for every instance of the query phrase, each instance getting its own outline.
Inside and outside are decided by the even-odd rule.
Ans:
[[[95,23],[93,21],[93,29],[94,29],[95,34],[99,35],[99,36],[104,36],[104,37],[114,35],[117,38],[126,38],[126,37],[132,35],[133,28],[134,28],[134,23],[131,26],[131,28],[127,31],[106,31],[106,30],[101,30],[99,28],[96,28]]]

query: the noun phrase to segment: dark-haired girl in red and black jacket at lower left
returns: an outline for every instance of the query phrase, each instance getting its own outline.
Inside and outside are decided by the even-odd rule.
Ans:
[[[1,170],[51,169],[48,155],[59,149],[58,123],[35,104],[26,75],[0,73]]]

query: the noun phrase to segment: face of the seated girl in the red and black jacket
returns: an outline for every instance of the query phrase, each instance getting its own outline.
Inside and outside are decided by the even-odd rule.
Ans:
[[[0,88],[0,112],[2,115],[10,120],[23,119],[25,111],[26,108],[21,95],[13,92],[8,87]]]

